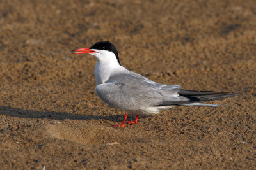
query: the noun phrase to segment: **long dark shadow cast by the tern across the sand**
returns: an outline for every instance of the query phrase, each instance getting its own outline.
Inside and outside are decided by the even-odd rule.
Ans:
[[[6,115],[19,118],[43,118],[49,120],[110,120],[120,122],[123,115],[80,115],[76,113],[55,112],[55,111],[33,111],[12,108],[10,106],[0,106],[0,115]]]

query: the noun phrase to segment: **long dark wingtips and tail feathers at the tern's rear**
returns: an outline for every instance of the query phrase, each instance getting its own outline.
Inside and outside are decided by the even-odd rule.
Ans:
[[[159,106],[218,106],[218,104],[205,104],[201,102],[215,101],[227,97],[240,95],[239,93],[228,92],[210,92],[210,91],[195,91],[195,90],[180,90],[178,92],[182,98],[188,100],[180,101],[163,101]]]

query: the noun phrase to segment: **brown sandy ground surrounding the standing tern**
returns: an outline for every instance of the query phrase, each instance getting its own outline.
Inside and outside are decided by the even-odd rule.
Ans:
[[[255,169],[255,28],[255,1],[0,1],[0,169]],[[95,59],[70,53],[97,41],[159,83],[242,95],[113,128]]]

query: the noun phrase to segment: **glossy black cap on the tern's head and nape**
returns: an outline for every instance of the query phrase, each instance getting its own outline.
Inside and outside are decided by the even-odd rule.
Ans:
[[[120,64],[118,52],[116,50],[115,45],[110,43],[109,41],[100,41],[95,43],[93,46],[90,47],[90,49],[95,50],[108,50],[109,52],[113,52],[116,55],[116,59],[118,60],[118,63]],[[120,64],[121,65],[121,64]]]

